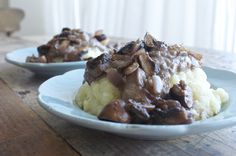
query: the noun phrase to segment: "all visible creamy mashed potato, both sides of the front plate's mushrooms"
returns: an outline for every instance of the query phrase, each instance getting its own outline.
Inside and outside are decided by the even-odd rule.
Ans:
[[[194,106],[192,113],[195,120],[201,120],[219,113],[223,103],[229,100],[229,95],[222,88],[212,89],[207,76],[201,68],[175,74],[170,79],[171,86],[184,80],[192,89]],[[76,95],[76,103],[93,115],[114,99],[120,97],[119,90],[108,79],[103,78],[91,85],[83,84]]]

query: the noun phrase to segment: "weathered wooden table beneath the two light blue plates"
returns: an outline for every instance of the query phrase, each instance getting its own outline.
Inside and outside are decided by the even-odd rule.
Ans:
[[[0,38],[0,156],[236,155],[236,126],[175,140],[142,141],[83,128],[51,115],[36,99],[37,88],[46,79],[4,61],[11,50],[45,41]],[[236,72],[235,55],[207,50],[203,55],[206,65]]]

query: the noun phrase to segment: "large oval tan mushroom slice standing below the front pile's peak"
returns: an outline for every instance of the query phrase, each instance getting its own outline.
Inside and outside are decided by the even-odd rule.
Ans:
[[[148,76],[152,76],[154,75],[154,73],[159,72],[160,69],[158,65],[152,60],[152,58],[147,53],[140,54],[138,58],[142,69]]]

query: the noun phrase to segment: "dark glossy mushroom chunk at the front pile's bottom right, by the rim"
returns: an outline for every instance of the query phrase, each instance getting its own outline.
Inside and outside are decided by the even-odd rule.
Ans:
[[[181,106],[177,100],[160,100],[150,113],[153,124],[189,124],[192,114]]]

